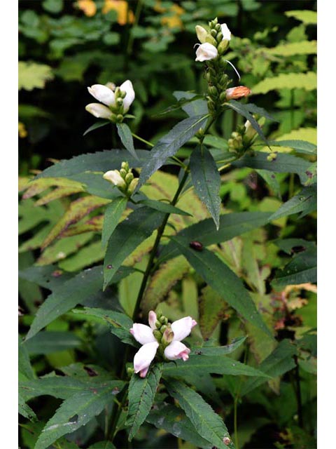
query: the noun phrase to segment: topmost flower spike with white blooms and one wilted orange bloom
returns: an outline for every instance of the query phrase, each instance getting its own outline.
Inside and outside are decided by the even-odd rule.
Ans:
[[[231,64],[224,57],[231,40],[228,25],[218,23],[216,18],[209,22],[209,30],[196,25],[196,34],[200,41],[200,44],[196,44],[196,61],[206,62],[206,78],[209,83],[208,108],[211,114],[216,115],[221,112],[226,101],[246,97],[251,91],[245,86],[228,88],[232,81],[225,74],[228,63]]]

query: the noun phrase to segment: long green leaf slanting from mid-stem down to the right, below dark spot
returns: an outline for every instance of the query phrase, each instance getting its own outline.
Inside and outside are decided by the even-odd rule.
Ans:
[[[190,248],[189,242],[181,237],[171,237],[172,241],[186,257],[190,265],[196,270],[209,286],[224,297],[231,307],[237,310],[241,316],[250,321],[254,326],[269,334],[269,330],[262,321],[255,304],[244,288],[241,279],[214,253],[204,248],[196,251]]]

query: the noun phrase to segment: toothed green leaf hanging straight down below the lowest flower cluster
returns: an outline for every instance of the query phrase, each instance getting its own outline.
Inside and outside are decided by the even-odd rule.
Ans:
[[[128,441],[132,441],[139,427],[151,411],[161,374],[161,366],[155,365],[144,379],[139,377],[138,374],[134,373],[132,375],[128,388],[129,406],[126,422],[126,425],[130,426]]]

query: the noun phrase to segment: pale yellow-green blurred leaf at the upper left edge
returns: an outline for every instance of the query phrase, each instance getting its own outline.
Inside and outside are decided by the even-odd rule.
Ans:
[[[25,89],[32,91],[34,88],[43,89],[45,82],[53,79],[52,69],[45,64],[36,62],[19,61],[19,91]]]

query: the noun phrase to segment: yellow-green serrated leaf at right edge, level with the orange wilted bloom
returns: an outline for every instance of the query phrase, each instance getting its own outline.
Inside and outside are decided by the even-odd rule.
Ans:
[[[280,89],[304,89],[314,91],[317,88],[315,72],[307,73],[281,73],[272,78],[265,78],[256,84],[252,91],[253,95],[279,91]]]

